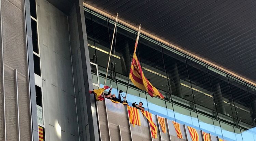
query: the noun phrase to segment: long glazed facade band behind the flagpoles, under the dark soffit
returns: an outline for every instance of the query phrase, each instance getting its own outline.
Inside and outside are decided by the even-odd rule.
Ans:
[[[85,8],[90,60],[104,83],[114,21]],[[108,81],[125,96],[137,31],[118,23]],[[145,76],[165,96],[152,98],[132,83],[127,101],[154,115],[230,141],[256,141],[256,88],[171,47],[140,35],[137,56]]]

